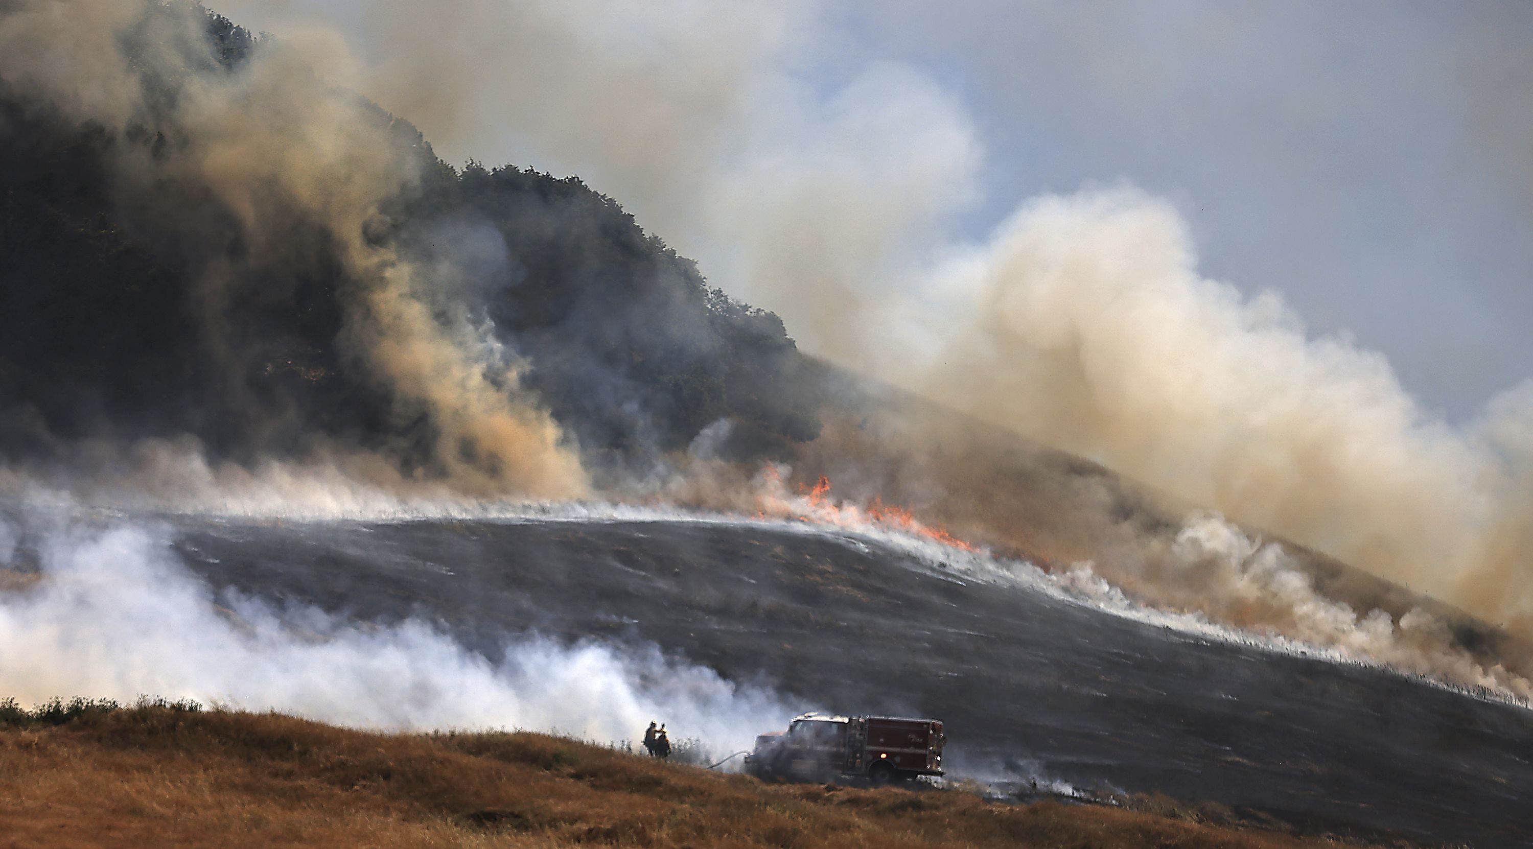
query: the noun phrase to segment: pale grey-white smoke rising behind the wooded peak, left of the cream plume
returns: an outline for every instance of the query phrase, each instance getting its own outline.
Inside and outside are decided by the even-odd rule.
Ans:
[[[451,156],[579,175],[809,352],[874,371],[888,287],[944,245],[981,150],[929,74],[839,58],[822,6],[383,0],[365,49],[322,6],[250,12]]]

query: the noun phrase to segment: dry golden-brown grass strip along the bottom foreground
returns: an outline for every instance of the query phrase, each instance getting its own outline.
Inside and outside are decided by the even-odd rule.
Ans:
[[[117,710],[0,731],[0,847],[1329,846],[1110,808],[763,785],[540,734]]]

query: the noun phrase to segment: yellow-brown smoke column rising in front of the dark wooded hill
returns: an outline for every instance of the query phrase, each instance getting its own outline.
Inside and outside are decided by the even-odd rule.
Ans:
[[[563,498],[586,490],[575,452],[546,411],[518,392],[517,363],[483,322],[452,310],[434,279],[379,238],[382,205],[422,178],[429,156],[389,138],[388,121],[354,95],[328,87],[293,52],[254,51],[233,72],[213,69],[207,20],[192,5],[150,0],[11,5],[0,26],[0,75],[80,120],[121,130],[146,120],[140,74],[181,81],[173,124],[187,155],[169,162],[124,158],[123,179],[193,178],[242,225],[250,259],[281,253],[285,215],[322,222],[348,277],[346,345],[386,385],[402,420],[425,415],[432,460],[469,492]],[[146,26],[147,48],[124,55],[120,38]],[[233,268],[202,280],[210,339],[241,285]]]

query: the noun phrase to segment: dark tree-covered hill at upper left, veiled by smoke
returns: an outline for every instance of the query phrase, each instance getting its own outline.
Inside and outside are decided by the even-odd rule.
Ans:
[[[48,14],[0,5],[5,46],[28,26],[106,29],[136,106],[81,106],[41,61],[0,61],[11,461],[190,434],[236,461],[339,446],[517,489],[537,475],[500,474],[520,460],[498,443],[547,417],[533,451],[587,470],[642,466],[719,418],[745,455],[817,435],[782,322],[578,179],[458,172],[201,5]],[[328,161],[290,167],[290,147]]]

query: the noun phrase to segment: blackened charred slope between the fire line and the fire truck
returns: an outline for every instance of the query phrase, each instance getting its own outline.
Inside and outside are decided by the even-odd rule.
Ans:
[[[491,657],[526,630],[655,642],[789,706],[935,716],[958,774],[1213,800],[1311,832],[1508,849],[1533,835],[1524,708],[1122,618],[871,538],[771,523],[176,524],[176,550],[213,585],[359,621],[426,618]]]

